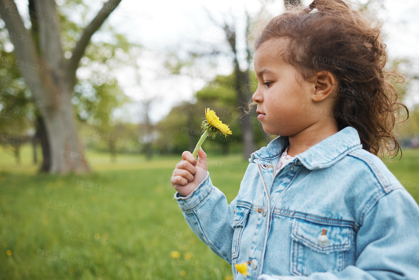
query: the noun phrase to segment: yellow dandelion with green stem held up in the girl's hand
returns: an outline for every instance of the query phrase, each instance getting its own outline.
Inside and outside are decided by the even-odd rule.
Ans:
[[[215,112],[213,110],[209,110],[209,108],[205,108],[205,120],[202,121],[201,128],[203,133],[194,149],[194,152],[192,153],[194,157],[197,157],[199,148],[202,146],[202,143],[204,143],[204,140],[208,135],[211,135],[212,139],[214,139],[217,132],[224,134],[225,137],[227,137],[227,134],[233,134],[230,131],[230,128],[228,128],[228,125],[222,123],[220,118],[215,115]]]

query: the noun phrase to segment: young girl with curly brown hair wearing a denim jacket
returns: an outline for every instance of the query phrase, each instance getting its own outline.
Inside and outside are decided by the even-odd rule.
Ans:
[[[254,49],[258,120],[280,136],[251,154],[230,204],[202,148],[182,154],[171,183],[191,230],[235,279],[419,279],[418,204],[377,156],[398,153],[407,111],[380,26],[315,0],[269,21]]]

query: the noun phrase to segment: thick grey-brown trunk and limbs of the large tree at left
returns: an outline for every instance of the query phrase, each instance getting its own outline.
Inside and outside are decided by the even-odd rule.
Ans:
[[[83,154],[83,147],[78,139],[73,105],[70,102],[73,87],[76,83],[75,72],[85,47],[103,21],[116,8],[121,0],[109,0],[103,4],[96,17],[84,29],[80,40],[72,52],[70,60],[65,60],[60,40],[59,16],[54,0],[30,0],[29,9],[36,14],[49,15],[48,19],[37,18],[32,32],[23,26],[16,4],[13,0],[0,0],[0,9],[7,11],[1,16],[9,32],[21,36],[34,36],[34,42],[10,37],[15,47],[15,56],[28,87],[34,94],[36,106],[43,118],[45,134],[48,141],[41,142],[44,163],[41,170],[51,173],[88,171]],[[6,9],[6,7],[8,7]],[[9,9],[11,7],[11,10]],[[58,20],[57,20],[58,19]],[[15,62],[15,64],[17,64]],[[49,147],[48,147],[49,145]],[[45,149],[48,147],[48,149]],[[48,152],[47,152],[48,151]],[[49,156],[49,161],[46,157]]]

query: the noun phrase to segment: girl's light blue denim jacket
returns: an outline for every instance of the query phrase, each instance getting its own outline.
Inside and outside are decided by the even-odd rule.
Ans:
[[[248,280],[419,280],[419,206],[346,127],[275,169],[288,137],[251,154],[238,195],[206,177],[176,192],[191,230]]]

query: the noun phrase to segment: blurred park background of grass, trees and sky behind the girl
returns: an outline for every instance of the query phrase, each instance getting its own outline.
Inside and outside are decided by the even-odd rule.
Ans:
[[[384,20],[406,77],[403,157],[384,161],[419,201],[419,4],[355,2]],[[242,114],[257,87],[246,34],[285,3],[0,0],[0,279],[232,280],[170,179],[205,107],[233,132],[202,146],[228,202],[276,137]]]

